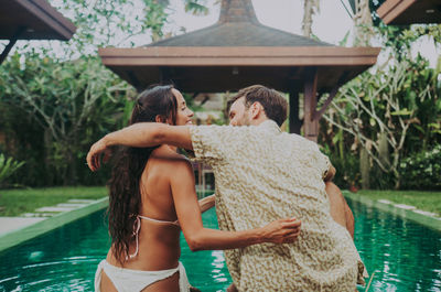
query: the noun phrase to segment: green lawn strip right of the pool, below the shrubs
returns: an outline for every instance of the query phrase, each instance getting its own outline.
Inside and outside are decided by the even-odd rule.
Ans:
[[[358,194],[373,201],[388,199],[397,204],[416,206],[441,216],[441,192],[362,190]]]

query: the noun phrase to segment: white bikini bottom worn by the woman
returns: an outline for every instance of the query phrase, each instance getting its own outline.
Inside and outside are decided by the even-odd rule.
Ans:
[[[95,273],[95,291],[100,292],[103,271],[110,279],[118,292],[140,292],[154,282],[172,277],[175,272],[180,273],[180,292],[189,292],[190,283],[186,278],[185,268],[180,262],[178,268],[162,271],[141,271],[130,270],[111,266],[106,260],[99,262]]]

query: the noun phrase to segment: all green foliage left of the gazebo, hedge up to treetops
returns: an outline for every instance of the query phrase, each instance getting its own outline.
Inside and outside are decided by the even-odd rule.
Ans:
[[[97,48],[131,46],[140,35],[147,35],[144,43],[163,37],[170,3],[51,3],[74,21],[74,37],[67,43],[18,46],[0,67],[1,148],[26,162],[14,174],[9,172],[9,180],[29,186],[103,184],[108,173],[90,175],[85,155],[92,141],[125,125],[137,93],[103,66]],[[207,12],[204,1],[184,3],[191,13]]]

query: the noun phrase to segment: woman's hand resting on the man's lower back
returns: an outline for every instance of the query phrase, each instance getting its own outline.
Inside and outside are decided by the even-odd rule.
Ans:
[[[295,241],[300,234],[301,221],[286,218],[272,221],[261,228],[262,240],[272,244],[289,244]]]

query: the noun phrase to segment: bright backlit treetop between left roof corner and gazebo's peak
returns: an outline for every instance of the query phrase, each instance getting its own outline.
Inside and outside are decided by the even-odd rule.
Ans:
[[[61,1],[61,3],[58,3]],[[182,0],[185,11],[195,15],[208,13],[206,0]],[[74,22],[78,26],[73,43],[77,48],[88,47],[96,53],[99,46],[133,46],[164,37],[164,25],[170,17],[169,0],[58,0],[57,8],[65,14],[76,11]],[[143,39],[141,35],[150,34]]]

